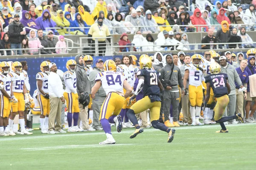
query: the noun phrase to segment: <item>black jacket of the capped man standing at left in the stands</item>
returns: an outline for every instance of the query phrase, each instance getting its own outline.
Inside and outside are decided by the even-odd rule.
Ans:
[[[26,38],[26,35],[20,35],[20,32],[23,31],[23,28],[24,26],[22,23],[18,25],[15,21],[9,25],[8,33],[10,35],[11,43],[20,44],[22,40]]]

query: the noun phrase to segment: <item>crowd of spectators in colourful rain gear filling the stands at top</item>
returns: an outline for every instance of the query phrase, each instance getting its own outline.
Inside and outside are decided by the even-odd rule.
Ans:
[[[168,50],[175,49],[173,45],[178,45],[176,48],[178,50],[189,50],[191,48],[189,45],[182,45],[189,42],[189,37],[183,33],[207,32],[210,28],[216,32],[215,38],[219,43],[247,42],[247,45],[244,46],[251,48],[253,46],[250,45],[252,40],[247,36],[246,31],[254,30],[255,26],[253,24],[256,23],[255,5],[256,0],[193,0],[190,4],[188,4],[187,0],[2,0],[2,3],[0,3],[0,37],[2,41],[0,48],[43,49],[48,46],[59,47],[55,46],[57,42],[52,43],[52,38],[50,38],[52,40],[48,44],[44,39],[48,40],[51,37],[49,34],[63,36],[65,34],[86,35],[89,32],[89,28],[94,23],[98,23],[99,17],[102,17],[102,23],[108,28],[110,34],[122,34],[120,38],[121,44],[119,45],[134,42],[136,44],[134,51],[138,49],[142,51],[152,49],[155,51],[166,50],[166,46],[163,46],[163,44],[160,44],[156,49],[153,46],[138,46],[138,44],[140,45],[144,42],[146,44],[143,45],[150,45],[152,42],[155,45],[159,45],[159,42],[166,42],[164,44],[167,44]],[[15,18],[19,18],[19,20],[16,21]],[[232,24],[248,25],[234,26]],[[11,28],[18,26],[35,30],[42,29],[48,35],[44,34],[42,39],[37,34],[37,31],[31,32],[31,29],[26,28],[24,32],[23,30],[20,31],[20,35],[23,35],[23,37],[20,37],[22,40],[16,41],[16,45],[14,45],[12,40],[14,36],[10,32],[12,30],[9,29],[9,25]],[[98,26],[100,28],[103,25]],[[67,27],[70,27],[70,29],[67,29]],[[47,28],[52,29],[48,30]],[[137,35],[138,32],[140,33],[139,35]],[[173,34],[173,40],[170,36],[167,37],[166,32],[170,36]],[[136,35],[134,35],[134,40],[123,40],[125,37],[123,33]],[[150,34],[156,33],[159,40],[154,41],[150,38],[148,41],[147,37],[152,37]],[[143,34],[147,36],[144,37]],[[101,37],[102,35],[98,36]],[[36,37],[40,41],[37,41]],[[32,41],[37,43],[34,44]],[[61,40],[59,41],[61,42]],[[175,44],[170,44],[170,42]],[[64,43],[58,44],[61,45],[60,47],[65,47]],[[235,45],[230,45],[230,48],[235,48]],[[125,50],[126,48],[120,48],[120,51]],[[41,54],[66,52],[66,50],[58,49],[56,51],[41,50]],[[38,50],[17,51],[17,54],[37,53]],[[11,55],[14,52],[7,50],[1,51],[1,54]]]

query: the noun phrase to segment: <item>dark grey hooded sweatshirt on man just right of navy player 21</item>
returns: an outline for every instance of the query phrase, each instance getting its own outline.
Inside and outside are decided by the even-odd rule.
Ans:
[[[166,54],[167,56],[171,54]],[[172,71],[173,68],[173,71]],[[169,79],[170,75],[172,73],[172,77]],[[183,85],[183,80],[182,80],[182,75],[180,73],[180,68],[178,68],[176,65],[173,63],[173,57],[172,57],[172,63],[168,64],[166,61],[166,65],[160,70],[160,81],[162,82],[162,85],[164,88],[167,86],[172,86],[173,92],[179,91],[178,85],[180,86],[181,90],[184,91],[184,85]]]

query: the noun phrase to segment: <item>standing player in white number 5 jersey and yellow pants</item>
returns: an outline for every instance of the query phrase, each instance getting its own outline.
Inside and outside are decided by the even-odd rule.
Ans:
[[[185,65],[185,74],[183,77],[183,84],[186,87],[189,79],[189,102],[190,114],[192,118],[192,126],[204,125],[199,122],[201,112],[201,105],[203,100],[202,82],[205,81],[203,76],[203,65],[200,65],[202,57],[199,54],[194,54],[192,57],[192,64]]]

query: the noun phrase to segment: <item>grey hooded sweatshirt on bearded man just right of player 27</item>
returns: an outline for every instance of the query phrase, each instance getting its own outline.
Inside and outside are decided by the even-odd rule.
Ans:
[[[76,87],[77,87],[77,93],[79,96],[81,96],[81,93],[88,93],[90,94],[91,88],[90,88],[90,81],[87,77],[87,73],[84,69],[84,65],[79,64],[79,57],[81,55],[76,55],[75,61],[77,63],[76,65]]]

